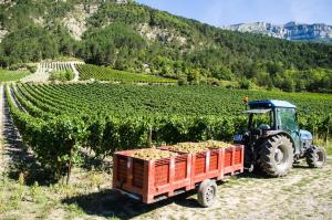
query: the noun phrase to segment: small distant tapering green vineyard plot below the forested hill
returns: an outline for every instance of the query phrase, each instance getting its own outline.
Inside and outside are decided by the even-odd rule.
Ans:
[[[94,78],[97,81],[111,81],[118,83],[176,83],[175,80],[170,78],[129,73],[91,64],[79,64],[76,65],[76,69],[80,72],[80,80],[82,81]]]

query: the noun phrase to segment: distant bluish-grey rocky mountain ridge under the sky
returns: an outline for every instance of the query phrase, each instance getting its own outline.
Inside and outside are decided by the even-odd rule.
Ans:
[[[260,33],[291,41],[332,43],[332,27],[324,23],[307,24],[292,21],[286,24],[273,24],[269,22],[255,22],[221,28],[231,31]]]

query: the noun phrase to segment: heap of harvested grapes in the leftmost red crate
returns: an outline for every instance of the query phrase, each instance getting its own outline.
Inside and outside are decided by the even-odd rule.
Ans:
[[[163,159],[163,158],[169,158],[175,156],[177,156],[177,153],[160,150],[155,148],[138,149],[132,155],[132,157],[145,159],[145,160]]]

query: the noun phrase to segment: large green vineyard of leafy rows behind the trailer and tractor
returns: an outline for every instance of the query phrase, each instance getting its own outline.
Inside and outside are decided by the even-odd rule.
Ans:
[[[332,96],[253,92],[210,86],[17,84],[6,87],[11,115],[37,159],[55,176],[80,160],[82,148],[104,157],[176,144],[231,140],[246,126],[243,96],[287,99],[299,107],[302,128],[331,137]],[[328,113],[328,114],[326,114]]]

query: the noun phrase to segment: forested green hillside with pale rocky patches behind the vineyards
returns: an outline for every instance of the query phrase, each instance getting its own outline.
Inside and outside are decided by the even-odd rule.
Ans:
[[[220,30],[131,1],[0,2],[2,66],[69,55],[195,83],[332,91],[331,45]]]

